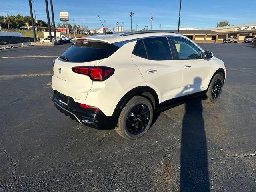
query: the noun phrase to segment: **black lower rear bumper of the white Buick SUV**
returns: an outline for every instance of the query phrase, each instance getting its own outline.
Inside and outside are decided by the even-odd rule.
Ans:
[[[59,101],[59,95],[60,93],[55,90],[52,96],[54,106],[66,116],[70,116],[71,119],[92,128],[115,128],[115,120],[112,116],[106,116],[101,110],[81,108],[80,105],[73,100],[73,98],[69,98],[68,106],[66,106]]]

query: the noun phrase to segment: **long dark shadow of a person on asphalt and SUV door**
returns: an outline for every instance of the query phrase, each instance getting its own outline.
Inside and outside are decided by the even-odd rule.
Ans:
[[[193,89],[200,90],[198,82],[201,82],[201,79],[197,77],[194,79],[194,84],[186,86],[182,92],[186,89],[191,92]],[[180,192],[210,191],[207,142],[202,112],[202,98],[186,102],[180,149]]]

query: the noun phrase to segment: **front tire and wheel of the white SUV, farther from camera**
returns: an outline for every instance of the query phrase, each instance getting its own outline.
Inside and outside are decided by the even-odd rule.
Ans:
[[[208,87],[205,100],[210,103],[215,103],[219,98],[223,88],[223,74],[217,73]]]

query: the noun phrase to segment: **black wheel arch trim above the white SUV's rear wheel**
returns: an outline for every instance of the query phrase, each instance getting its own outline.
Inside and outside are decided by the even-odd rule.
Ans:
[[[122,99],[118,102],[116,108],[114,109],[113,116],[116,119],[116,123],[122,108],[124,108],[128,101],[132,99],[134,96],[143,96],[147,98],[152,103],[154,109],[159,104],[158,95],[154,89],[148,86],[139,86],[133,88],[122,97]]]

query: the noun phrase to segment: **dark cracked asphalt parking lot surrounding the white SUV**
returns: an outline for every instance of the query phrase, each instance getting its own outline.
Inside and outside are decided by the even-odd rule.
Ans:
[[[52,104],[52,60],[70,44],[0,51],[0,191],[256,191],[256,48],[200,44],[227,75],[216,104],[159,114],[136,141]]]

